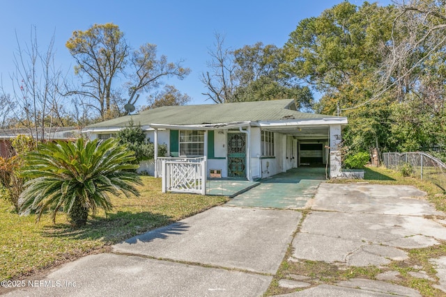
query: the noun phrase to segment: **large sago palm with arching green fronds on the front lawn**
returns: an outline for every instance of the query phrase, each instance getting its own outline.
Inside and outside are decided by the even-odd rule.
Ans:
[[[58,141],[40,144],[26,158],[22,175],[29,178],[20,195],[22,214],[35,211],[37,220],[43,211],[68,214],[75,227],[86,224],[90,210],[112,209],[109,194],[138,195],[141,184],[134,173],[134,153],[116,139],[99,142],[79,138],[75,143]]]

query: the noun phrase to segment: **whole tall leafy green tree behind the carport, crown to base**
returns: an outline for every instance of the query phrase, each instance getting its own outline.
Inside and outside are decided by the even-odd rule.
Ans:
[[[346,116],[344,143],[350,154],[371,147],[388,148],[391,92],[382,90],[380,67],[391,40],[393,6],[348,1],[303,19],[284,46],[289,77],[305,81],[322,93],[317,113]]]

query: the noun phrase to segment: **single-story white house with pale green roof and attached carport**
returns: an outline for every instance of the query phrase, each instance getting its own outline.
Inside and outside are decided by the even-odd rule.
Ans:
[[[163,106],[100,122],[84,132],[105,139],[128,126],[130,120],[141,125],[155,143],[155,159],[156,147],[161,144],[167,145],[170,157],[205,156],[208,177],[252,181],[327,162],[330,177],[340,176],[338,149],[347,119],[302,113],[292,99]]]

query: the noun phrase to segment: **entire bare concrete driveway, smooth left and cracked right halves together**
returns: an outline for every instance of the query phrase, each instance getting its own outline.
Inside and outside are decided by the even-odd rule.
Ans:
[[[252,190],[251,190],[252,191]],[[263,193],[266,195],[266,193]],[[321,275],[282,275],[287,296],[420,296],[397,282],[387,264],[413,248],[446,240],[446,216],[412,186],[321,184],[309,213],[259,207],[214,207],[116,244],[45,275],[38,287],[10,296],[261,296],[279,265],[311,260],[346,269],[374,265],[377,280],[324,284]],[[297,232],[298,231],[298,232]],[[292,246],[286,258],[286,250]],[[431,259],[438,281],[414,266],[417,278],[446,292],[446,257]],[[300,291],[296,291],[300,290]]]

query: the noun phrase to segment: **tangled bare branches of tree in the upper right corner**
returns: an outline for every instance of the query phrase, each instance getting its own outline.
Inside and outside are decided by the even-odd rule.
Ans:
[[[366,106],[389,95],[399,102],[415,96],[437,106],[446,83],[446,13],[443,0],[394,0],[391,36],[380,47],[383,61],[376,72],[377,86],[367,101],[343,111]],[[441,62],[443,61],[443,62]],[[434,79],[436,78],[436,79]],[[443,87],[441,87],[443,88]],[[443,95],[440,95],[443,93]],[[436,94],[436,95],[433,95]],[[429,97],[429,99],[428,99]]]

